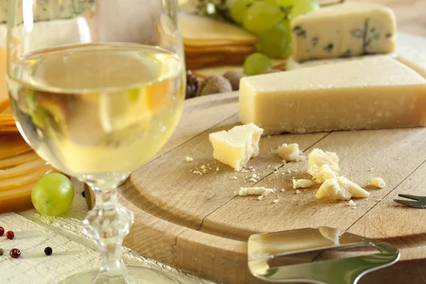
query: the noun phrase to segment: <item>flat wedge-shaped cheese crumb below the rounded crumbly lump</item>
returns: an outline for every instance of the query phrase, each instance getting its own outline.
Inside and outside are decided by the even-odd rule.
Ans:
[[[368,197],[370,196],[370,192],[364,190],[355,182],[351,182],[347,178],[338,177],[324,181],[315,196],[317,198],[330,197],[334,200],[350,200],[351,197]]]

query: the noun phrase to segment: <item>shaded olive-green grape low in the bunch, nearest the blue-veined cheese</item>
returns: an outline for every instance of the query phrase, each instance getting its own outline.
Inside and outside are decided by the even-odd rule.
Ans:
[[[284,58],[289,44],[289,33],[282,23],[277,23],[273,28],[259,35],[260,49],[257,49],[258,45],[256,45],[256,50],[268,56],[268,58]]]

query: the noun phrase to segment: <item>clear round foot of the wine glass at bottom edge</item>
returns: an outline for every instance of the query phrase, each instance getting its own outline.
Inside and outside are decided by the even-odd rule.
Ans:
[[[128,280],[124,278],[109,278],[109,279],[97,279],[99,270],[86,271],[76,275],[72,275],[70,278],[62,280],[60,284],[176,284],[181,283],[175,280],[168,273],[156,271],[151,268],[141,266],[126,266],[127,271],[131,275]]]

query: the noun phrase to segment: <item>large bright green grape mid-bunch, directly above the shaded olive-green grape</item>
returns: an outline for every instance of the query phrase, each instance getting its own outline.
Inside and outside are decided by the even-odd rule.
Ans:
[[[244,14],[243,25],[248,31],[261,33],[275,26],[282,18],[283,12],[276,4],[256,1]]]

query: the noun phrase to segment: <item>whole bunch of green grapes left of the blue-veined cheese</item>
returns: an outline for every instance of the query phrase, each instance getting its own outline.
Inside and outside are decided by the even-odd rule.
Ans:
[[[286,58],[291,54],[290,21],[317,9],[320,9],[317,0],[233,0],[230,14],[236,23],[258,36],[256,50],[259,53],[268,58]],[[268,66],[264,58],[262,62],[263,67]],[[249,62],[245,62],[246,65]],[[247,68],[262,70],[260,65]]]

